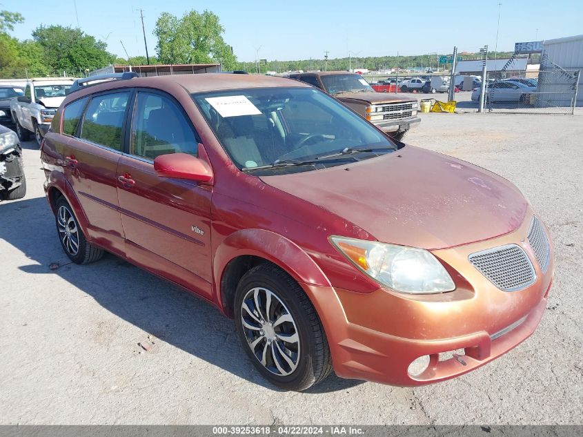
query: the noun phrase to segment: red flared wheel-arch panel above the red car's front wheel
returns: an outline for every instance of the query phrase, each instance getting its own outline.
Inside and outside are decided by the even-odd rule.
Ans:
[[[215,251],[213,279],[221,302],[221,279],[227,264],[241,255],[255,255],[281,267],[297,282],[330,287],[322,269],[297,244],[264,229],[241,229],[226,237]]]

